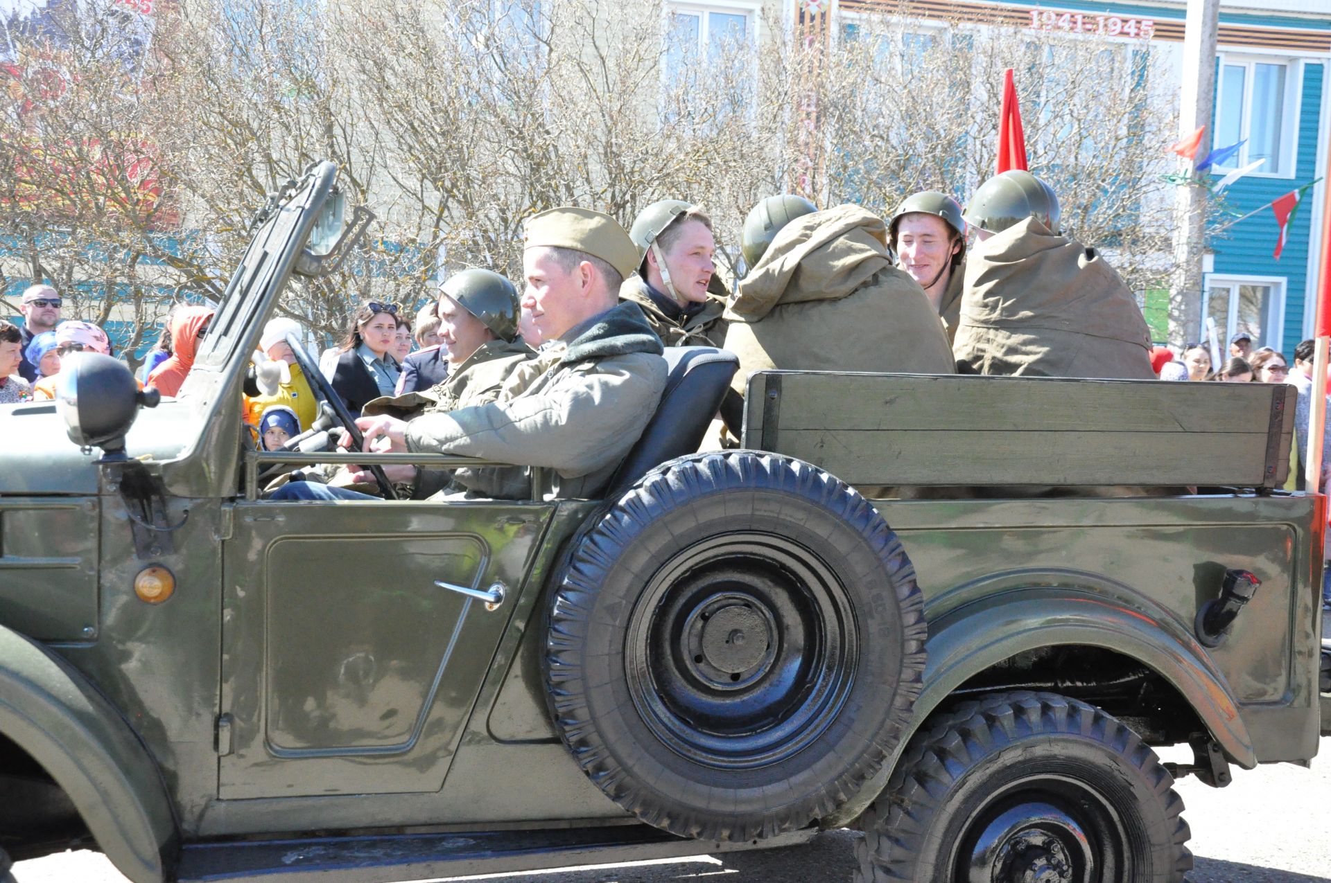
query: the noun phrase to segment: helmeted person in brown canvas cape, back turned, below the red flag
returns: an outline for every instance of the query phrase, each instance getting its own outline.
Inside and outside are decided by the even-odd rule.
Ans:
[[[1137,298],[1103,255],[1059,231],[1058,197],[1029,172],[985,181],[953,340],[968,374],[1155,378]]]

